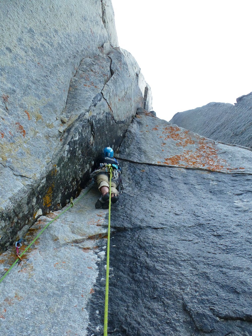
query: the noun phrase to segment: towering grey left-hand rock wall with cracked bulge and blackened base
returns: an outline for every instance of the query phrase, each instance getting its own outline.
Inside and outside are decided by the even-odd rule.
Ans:
[[[118,47],[109,0],[4,1],[0,25],[3,251],[78,195],[97,153],[118,149],[151,96]]]

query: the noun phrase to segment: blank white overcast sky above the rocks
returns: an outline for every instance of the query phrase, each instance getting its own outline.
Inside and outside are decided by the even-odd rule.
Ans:
[[[176,112],[252,91],[252,1],[112,0],[121,48],[152,88],[153,110]]]

